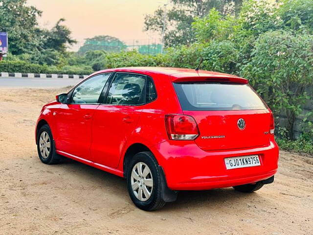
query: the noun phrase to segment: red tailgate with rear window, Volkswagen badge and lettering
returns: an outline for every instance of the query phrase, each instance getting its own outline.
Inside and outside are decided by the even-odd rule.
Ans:
[[[247,84],[174,83],[185,115],[195,118],[203,150],[262,146],[269,143],[270,111]]]

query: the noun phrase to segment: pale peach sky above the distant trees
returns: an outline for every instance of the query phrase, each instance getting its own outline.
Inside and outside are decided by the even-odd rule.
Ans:
[[[40,26],[51,28],[60,18],[65,18],[78,44],[70,48],[78,50],[85,38],[96,35],[117,37],[126,44],[158,42],[157,33],[143,32],[145,14],[152,14],[166,0],[27,0],[43,11]]]

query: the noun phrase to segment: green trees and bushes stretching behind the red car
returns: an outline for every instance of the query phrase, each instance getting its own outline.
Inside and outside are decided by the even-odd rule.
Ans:
[[[307,89],[313,85],[313,0],[170,3],[164,24],[165,53],[145,55],[126,50],[111,36],[87,39],[79,53],[68,52],[67,46],[75,40],[62,24],[64,19],[50,30],[43,29],[37,23],[41,12],[26,6],[25,0],[0,0],[0,31],[9,32],[11,51],[0,70],[3,63],[11,71],[18,64],[21,68],[21,63],[32,63],[79,74],[127,66],[196,68],[203,58],[201,69],[247,78],[275,114],[287,117],[286,123],[277,122],[277,135],[292,140],[294,122],[300,117],[304,121],[302,138],[313,143],[308,121],[312,112],[303,112],[303,105],[313,96]],[[161,6],[145,17],[144,30],[161,33],[163,22]],[[98,47],[95,39],[116,47]]]

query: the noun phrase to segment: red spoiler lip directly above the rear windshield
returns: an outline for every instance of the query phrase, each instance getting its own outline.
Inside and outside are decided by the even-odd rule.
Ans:
[[[237,77],[233,75],[210,75],[210,74],[199,74],[199,76],[188,76],[186,73],[182,74],[176,73],[171,75],[172,82],[231,82],[231,83],[242,83],[247,84],[248,80],[242,77]]]

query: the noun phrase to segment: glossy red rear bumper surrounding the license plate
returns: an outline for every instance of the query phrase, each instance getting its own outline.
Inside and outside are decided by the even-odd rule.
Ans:
[[[278,167],[278,146],[224,151],[204,151],[194,141],[164,141],[155,146],[167,186],[173,190],[205,190],[255,183],[273,176]],[[259,155],[261,165],[226,169],[224,158]]]

